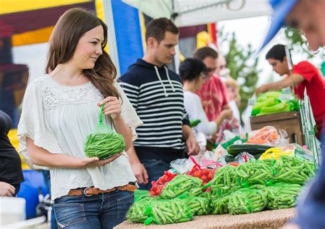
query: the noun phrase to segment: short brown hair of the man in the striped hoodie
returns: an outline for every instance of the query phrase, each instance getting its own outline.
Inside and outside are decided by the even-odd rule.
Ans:
[[[145,42],[147,43],[148,39],[152,37],[160,43],[165,38],[165,32],[179,33],[178,27],[171,20],[167,18],[154,19],[147,24]]]

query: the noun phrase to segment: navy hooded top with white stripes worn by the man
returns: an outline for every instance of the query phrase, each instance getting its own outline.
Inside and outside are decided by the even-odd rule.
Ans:
[[[143,125],[136,128],[138,139],[134,142],[139,158],[169,161],[184,157],[182,125],[189,125],[189,119],[179,75],[165,66],[156,67],[139,59],[120,80],[143,121]]]

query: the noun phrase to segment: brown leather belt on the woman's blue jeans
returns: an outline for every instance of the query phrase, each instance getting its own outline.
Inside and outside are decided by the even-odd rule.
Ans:
[[[125,184],[112,189],[101,190],[98,188],[85,188],[85,189],[70,189],[68,195],[98,195],[99,193],[111,193],[112,191],[136,191],[137,186],[134,184]]]

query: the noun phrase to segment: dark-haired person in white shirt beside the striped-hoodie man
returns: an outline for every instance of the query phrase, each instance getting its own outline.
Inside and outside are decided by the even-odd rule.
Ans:
[[[208,121],[204,112],[202,101],[195,91],[199,91],[207,78],[206,66],[201,60],[187,58],[180,64],[180,77],[184,90],[184,106],[190,120],[200,119],[201,123],[196,129],[210,136],[217,132],[218,126],[224,119],[232,117],[231,110],[223,110],[214,121]]]

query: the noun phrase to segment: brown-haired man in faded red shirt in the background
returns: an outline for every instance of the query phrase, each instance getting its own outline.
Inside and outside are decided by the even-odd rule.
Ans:
[[[215,74],[218,53],[210,47],[203,47],[195,51],[193,58],[204,62],[208,71],[208,79],[202,86],[202,89],[197,91],[197,95],[202,100],[204,112],[206,112],[208,120],[213,121],[217,119],[221,110],[230,110],[226,85],[221,81],[219,75]]]

